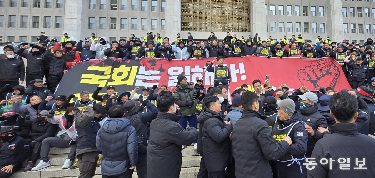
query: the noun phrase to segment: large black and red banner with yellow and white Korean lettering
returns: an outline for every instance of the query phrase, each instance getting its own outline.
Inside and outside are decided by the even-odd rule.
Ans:
[[[175,86],[177,76],[186,76],[188,82],[203,78],[206,88],[214,84],[214,74],[205,71],[206,61],[214,58],[172,60],[143,58],[142,60],[104,59],[79,63],[63,76],[55,94],[76,94],[83,90],[92,92],[96,87],[113,85],[116,93],[131,91],[134,87],[153,85]],[[217,61],[217,60],[216,60]],[[217,64],[217,63],[216,63]],[[252,86],[252,81],[266,75],[270,84],[278,88],[287,84],[290,91],[305,85],[308,90],[332,87],[335,91],[350,88],[339,63],[329,58],[267,58],[259,56],[232,57],[225,59],[231,73],[229,90],[242,84]],[[249,90],[253,90],[249,87]],[[103,91],[105,92],[105,91]],[[77,98],[76,98],[77,99]],[[79,99],[79,98],[78,98]]]

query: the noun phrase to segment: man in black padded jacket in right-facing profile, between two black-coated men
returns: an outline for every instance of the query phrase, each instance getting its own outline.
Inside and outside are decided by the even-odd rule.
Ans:
[[[223,121],[219,98],[210,96],[205,100],[206,108],[199,115],[202,129],[202,159],[208,171],[208,177],[225,177],[225,168],[231,154],[229,134],[231,122]],[[202,164],[202,161],[201,161]],[[199,174],[199,173],[198,173]]]

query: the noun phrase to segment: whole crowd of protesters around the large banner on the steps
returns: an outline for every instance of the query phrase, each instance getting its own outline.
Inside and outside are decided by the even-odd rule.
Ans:
[[[13,46],[5,46],[0,54],[0,177],[9,177],[24,162],[24,171],[51,166],[51,147],[70,148],[62,169],[78,168],[80,177],[94,177],[99,166],[103,177],[132,177],[135,168],[138,177],[179,177],[181,150],[188,145],[201,156],[197,177],[375,177],[375,140],[369,136],[375,135],[372,39],[361,45],[318,36],[312,43],[293,35],[274,42],[258,34],[237,39],[228,33],[218,41],[211,33],[206,43],[177,34],[169,44],[168,37],[152,31],[143,40],[131,36],[108,42],[93,33],[77,41],[65,33],[60,42],[43,45],[48,39],[40,39],[31,49],[23,46],[18,56]],[[248,55],[332,56],[352,89],[289,91],[287,84],[276,88],[266,78],[232,86],[238,88],[228,96],[231,75],[225,59]],[[26,70],[20,57],[26,58]],[[81,91],[75,102],[74,94],[53,94],[66,70],[81,61],[144,57],[216,58],[207,64],[214,85],[204,86],[202,79],[192,85],[180,75],[173,87],[116,94],[107,86],[103,95],[103,87],[97,87],[92,99],[89,91]],[[347,170],[341,169],[344,163]]]

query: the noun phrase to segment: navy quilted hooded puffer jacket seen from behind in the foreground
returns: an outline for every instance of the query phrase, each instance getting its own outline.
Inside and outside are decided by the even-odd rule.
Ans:
[[[108,118],[96,135],[96,147],[103,154],[103,175],[124,173],[138,162],[137,135],[128,119]]]

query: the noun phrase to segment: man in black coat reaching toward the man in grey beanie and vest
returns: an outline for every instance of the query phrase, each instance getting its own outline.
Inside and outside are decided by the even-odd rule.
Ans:
[[[244,111],[231,137],[236,152],[236,177],[273,177],[269,160],[278,160],[288,153],[291,138],[287,136],[276,144],[264,115],[258,112],[257,94],[243,93],[241,102]]]

